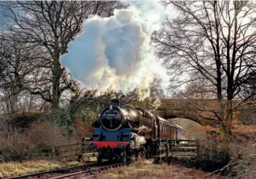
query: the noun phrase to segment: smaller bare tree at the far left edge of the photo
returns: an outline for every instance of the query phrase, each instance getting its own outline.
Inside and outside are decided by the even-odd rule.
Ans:
[[[10,114],[19,111],[18,96],[24,90],[20,86],[20,81],[32,76],[35,67],[31,65],[32,61],[27,59],[28,56],[32,55],[31,49],[26,48],[24,44],[14,42],[6,36],[2,36],[1,43],[0,58],[4,64],[4,69],[0,80],[0,89],[2,100],[6,101],[7,113]]]

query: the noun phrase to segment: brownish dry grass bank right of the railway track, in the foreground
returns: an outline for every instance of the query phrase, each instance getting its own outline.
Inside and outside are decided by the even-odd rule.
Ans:
[[[131,166],[123,166],[118,169],[106,170],[97,178],[101,179],[158,179],[158,178],[202,178],[206,172],[195,170],[184,166],[168,166],[166,164],[153,164],[152,160],[140,160]],[[213,176],[207,178],[220,178]]]

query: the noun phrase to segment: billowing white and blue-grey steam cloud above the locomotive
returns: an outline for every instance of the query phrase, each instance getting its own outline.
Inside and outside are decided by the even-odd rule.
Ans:
[[[106,89],[147,88],[154,74],[160,74],[166,87],[165,68],[150,49],[152,31],[161,27],[164,7],[158,2],[131,2],[129,9],[114,15],[93,16],[83,24],[83,33],[69,44],[61,62],[72,77],[84,86]]]

